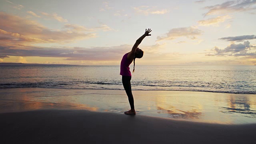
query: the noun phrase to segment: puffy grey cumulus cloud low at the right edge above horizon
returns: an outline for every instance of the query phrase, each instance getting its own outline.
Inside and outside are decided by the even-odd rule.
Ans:
[[[249,52],[255,46],[250,45],[250,42],[244,41],[243,44],[230,44],[224,49],[214,47],[212,51],[215,51],[214,54],[206,54],[206,56],[256,56],[256,52]]]

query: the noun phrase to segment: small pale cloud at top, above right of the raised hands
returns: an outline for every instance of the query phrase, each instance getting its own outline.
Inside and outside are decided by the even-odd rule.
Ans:
[[[167,9],[162,9],[162,10],[156,10],[155,7],[150,7],[150,6],[139,6],[139,7],[134,7],[134,10],[137,13],[142,13],[145,15],[148,14],[166,14],[169,12]]]

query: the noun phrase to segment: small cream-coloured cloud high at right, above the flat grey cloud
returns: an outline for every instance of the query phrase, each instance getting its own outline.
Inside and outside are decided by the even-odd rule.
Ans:
[[[227,19],[230,19],[230,16],[218,16],[216,18],[209,18],[208,20],[199,20],[198,24],[200,26],[219,26],[219,23],[224,22]]]

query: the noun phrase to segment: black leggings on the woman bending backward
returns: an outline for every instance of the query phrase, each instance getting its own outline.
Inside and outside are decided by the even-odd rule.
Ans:
[[[132,79],[132,76],[122,76],[122,83],[124,86],[124,90],[128,96],[128,100],[129,100],[131,109],[133,109],[134,108],[134,100],[133,100],[133,96],[132,96],[131,79]]]

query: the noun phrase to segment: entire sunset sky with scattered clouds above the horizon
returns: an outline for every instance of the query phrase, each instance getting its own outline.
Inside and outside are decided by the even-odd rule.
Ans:
[[[256,0],[0,0],[0,62],[256,64]]]

